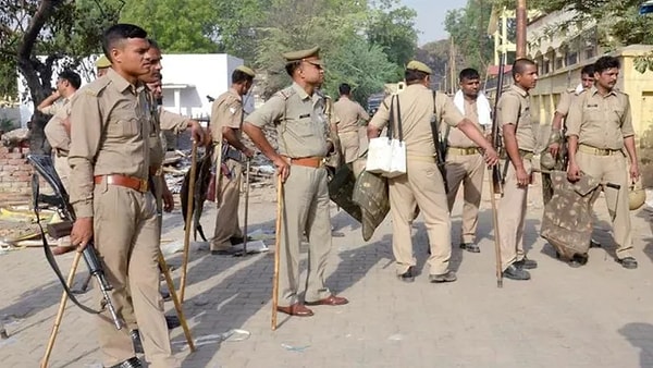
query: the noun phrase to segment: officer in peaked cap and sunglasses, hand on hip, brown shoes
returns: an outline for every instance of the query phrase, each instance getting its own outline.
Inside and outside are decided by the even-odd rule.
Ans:
[[[313,312],[299,300],[299,245],[306,232],[309,265],[306,281],[307,305],[347,304],[324,285],[324,270],[331,250],[331,223],[326,169],[323,160],[333,151],[329,122],[324,116],[324,98],[317,87],[324,81],[320,48],[284,53],[285,70],[293,85],[272,96],[251,113],[243,131],[278,169],[284,181],[283,226],[279,267],[279,310],[292,316],[309,317]],[[279,151],[261,128],[274,124]]]

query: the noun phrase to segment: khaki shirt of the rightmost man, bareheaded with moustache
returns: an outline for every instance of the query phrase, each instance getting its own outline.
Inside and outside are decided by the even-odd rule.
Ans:
[[[601,96],[596,87],[580,94],[567,115],[567,136],[571,135],[582,145],[624,148],[624,138],[634,135],[628,95],[612,90]]]

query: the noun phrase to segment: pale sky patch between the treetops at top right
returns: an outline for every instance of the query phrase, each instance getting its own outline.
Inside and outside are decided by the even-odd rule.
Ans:
[[[418,45],[447,38],[444,30],[446,12],[453,9],[465,8],[467,0],[401,0],[401,2],[417,11],[417,28],[421,32]]]

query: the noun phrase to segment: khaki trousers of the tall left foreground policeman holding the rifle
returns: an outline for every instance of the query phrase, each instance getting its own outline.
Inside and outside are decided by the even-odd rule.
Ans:
[[[159,294],[161,229],[155,206],[150,193],[107,185],[106,181],[96,185],[94,240],[107,280],[113,286],[109,295],[121,317],[125,307],[128,308],[131,292],[150,366],[180,367],[172,356],[163,299]],[[101,299],[99,290],[98,297]],[[104,366],[116,365],[136,355],[127,329],[116,330],[107,310],[97,321]]]

